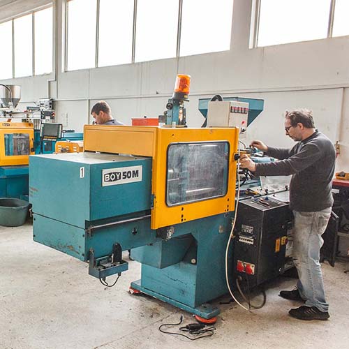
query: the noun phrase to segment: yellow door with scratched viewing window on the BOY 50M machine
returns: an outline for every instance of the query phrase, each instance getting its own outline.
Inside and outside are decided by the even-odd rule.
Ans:
[[[151,228],[235,209],[237,128],[159,128]]]

